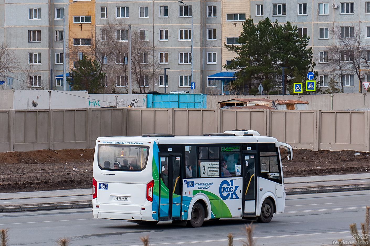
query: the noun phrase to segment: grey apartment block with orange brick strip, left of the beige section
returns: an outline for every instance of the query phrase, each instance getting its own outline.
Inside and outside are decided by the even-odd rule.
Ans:
[[[0,0],[1,42],[9,44],[18,68],[7,72],[13,84],[6,89],[63,90],[63,8],[71,0]],[[217,89],[207,77],[222,70],[221,0],[207,1],[78,1],[65,8],[67,73],[85,53],[94,53],[107,71],[103,82],[116,92],[127,91],[126,76],[109,69],[109,57],[94,46],[106,38],[105,30],[120,27],[116,41],[126,42],[128,25],[151,46],[158,59],[156,76],[145,81],[145,90],[164,92],[164,68],[168,68],[166,91],[191,89],[191,62],[194,62],[194,93]],[[193,31],[192,29],[193,18]],[[4,34],[4,35],[2,35]],[[194,60],[191,61],[191,39]],[[112,56],[110,54],[109,56]],[[143,55],[145,63],[145,56]],[[127,62],[127,58],[126,61]],[[116,64],[117,65],[117,64]],[[117,74],[115,74],[117,73]],[[55,77],[59,75],[59,77]],[[158,76],[157,76],[158,75]],[[143,76],[144,80],[146,77]],[[67,86],[68,88],[68,86]],[[133,90],[138,87],[133,85]]]

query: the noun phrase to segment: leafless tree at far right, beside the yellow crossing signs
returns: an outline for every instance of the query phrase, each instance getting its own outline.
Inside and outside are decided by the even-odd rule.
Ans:
[[[331,54],[339,60],[341,65],[346,62],[348,66],[342,67],[342,74],[344,68],[351,70],[356,73],[357,78],[361,82],[361,70],[366,65],[366,47],[363,45],[363,32],[360,27],[360,23],[356,23],[352,26],[333,25],[332,30],[334,35],[334,47],[336,48],[335,53]],[[343,76],[340,78],[343,80]],[[342,81],[343,83],[343,81]],[[360,92],[362,92],[362,86],[360,85]]]

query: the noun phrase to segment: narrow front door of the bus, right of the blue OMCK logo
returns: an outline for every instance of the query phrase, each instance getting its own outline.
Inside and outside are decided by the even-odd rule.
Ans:
[[[256,151],[243,151],[243,215],[256,214],[256,175],[255,158]],[[244,217],[243,216],[243,217]]]

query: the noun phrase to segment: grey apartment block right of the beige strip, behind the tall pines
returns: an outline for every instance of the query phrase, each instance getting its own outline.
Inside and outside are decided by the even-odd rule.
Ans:
[[[339,59],[345,67],[342,76],[339,75],[339,69],[332,66],[328,60],[328,57],[333,56],[330,53],[330,46],[338,43],[338,37],[333,32],[335,30],[342,32],[342,38],[348,39],[356,39],[359,37],[356,35],[361,33],[359,37],[361,49],[364,49],[364,54],[366,49],[369,49],[370,2],[251,0],[250,15],[255,23],[267,17],[282,24],[290,21],[298,27],[300,35],[310,37],[309,46],[313,49],[313,61],[316,63],[314,70],[319,73],[317,82],[323,90],[328,87],[331,78],[339,82],[338,87],[341,86],[340,82],[343,82],[344,93],[359,92],[361,82],[370,80],[368,70],[370,68],[361,69],[360,81],[356,72],[350,66],[346,66],[351,57],[345,52]]]

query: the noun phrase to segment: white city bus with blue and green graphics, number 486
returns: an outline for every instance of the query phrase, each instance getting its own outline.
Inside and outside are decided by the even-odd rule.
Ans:
[[[256,131],[98,138],[94,218],[194,227],[205,218],[269,222],[285,208],[279,147],[291,160],[290,145]]]

